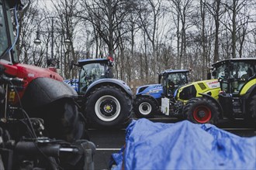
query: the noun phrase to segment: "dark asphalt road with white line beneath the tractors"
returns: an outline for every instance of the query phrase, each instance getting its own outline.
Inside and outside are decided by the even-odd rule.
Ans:
[[[151,118],[150,121],[175,123],[179,120],[159,116]],[[241,122],[234,123],[228,120],[223,120],[220,124],[216,124],[216,126],[242,137],[256,136],[255,124],[243,124]],[[96,153],[94,155],[95,169],[108,169],[112,153],[117,153],[125,143],[125,128],[119,130],[89,129],[88,132],[90,141],[94,142],[96,145]]]

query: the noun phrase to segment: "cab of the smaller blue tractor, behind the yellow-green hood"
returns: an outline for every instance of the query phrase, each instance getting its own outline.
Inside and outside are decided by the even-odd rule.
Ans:
[[[159,74],[159,80],[163,87],[162,96],[175,97],[175,90],[189,83],[189,70],[165,70]]]

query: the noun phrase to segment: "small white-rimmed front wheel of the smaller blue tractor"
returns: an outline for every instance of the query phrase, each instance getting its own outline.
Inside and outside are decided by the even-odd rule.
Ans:
[[[134,100],[133,110],[137,117],[150,118],[157,114],[157,104],[150,97],[137,97]]]

